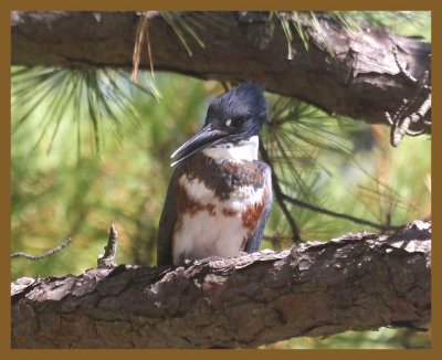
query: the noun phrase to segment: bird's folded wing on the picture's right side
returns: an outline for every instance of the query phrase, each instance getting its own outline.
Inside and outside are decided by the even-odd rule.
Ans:
[[[262,167],[262,171],[264,172],[264,187],[266,189],[267,197],[264,200],[264,209],[261,213],[260,220],[257,222],[257,226],[253,234],[249,237],[245,244],[245,251],[248,253],[254,253],[260,250],[261,240],[264,235],[264,227],[267,221],[270,211],[272,210],[272,201],[273,201],[273,193],[272,193],[272,169],[265,162],[260,163]]]

